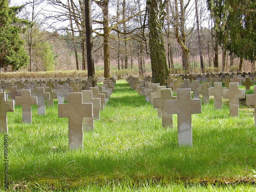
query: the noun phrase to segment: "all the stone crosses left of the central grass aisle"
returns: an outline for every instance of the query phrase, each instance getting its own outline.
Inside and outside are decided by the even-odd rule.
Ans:
[[[103,110],[114,91],[114,77],[102,81],[102,86],[92,87],[90,77],[87,80],[1,80],[1,133],[8,133],[7,112],[13,112],[14,105],[22,105],[23,122],[32,123],[31,105],[37,104],[38,115],[46,115],[45,101],[51,106],[53,99],[58,99],[58,116],[69,118],[69,148],[82,148],[83,129],[93,130],[94,118],[99,118],[99,110]]]

